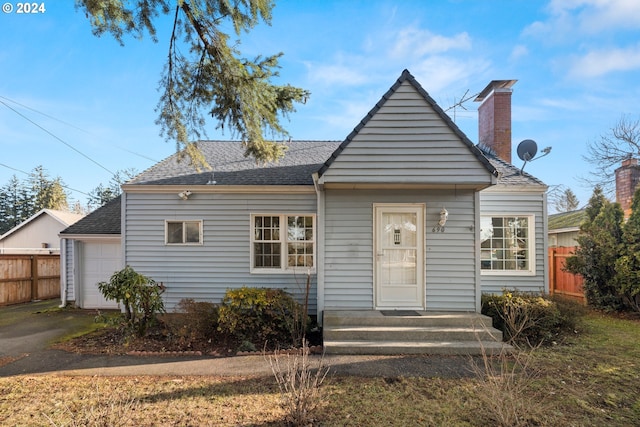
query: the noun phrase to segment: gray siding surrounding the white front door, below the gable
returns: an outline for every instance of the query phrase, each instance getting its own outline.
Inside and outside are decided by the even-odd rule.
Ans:
[[[475,311],[474,193],[445,190],[326,190],[325,309],[374,308],[374,203],[426,205],[426,308]],[[443,206],[445,232],[433,232]]]

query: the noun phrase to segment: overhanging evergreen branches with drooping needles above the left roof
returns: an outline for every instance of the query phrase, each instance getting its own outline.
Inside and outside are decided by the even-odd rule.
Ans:
[[[207,166],[194,140],[205,132],[204,111],[218,128],[239,137],[245,154],[260,162],[284,155],[288,133],[281,120],[305,102],[309,92],[289,84],[276,85],[282,53],[242,57],[236,36],[260,22],[271,23],[272,0],[78,0],[93,26],[94,34],[110,33],[124,44],[124,36],[156,41],[156,22],[172,17],[164,73],[160,80],[157,123],[168,139],[176,141],[181,154],[196,167]],[[273,137],[266,138],[265,135]]]

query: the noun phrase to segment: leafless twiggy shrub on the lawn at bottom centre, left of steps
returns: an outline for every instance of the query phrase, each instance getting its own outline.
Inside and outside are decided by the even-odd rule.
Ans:
[[[294,426],[313,424],[313,413],[322,401],[321,387],[329,372],[329,367],[324,365],[324,355],[313,364],[309,354],[305,341],[299,351],[285,354],[276,351],[268,356],[287,421]]]

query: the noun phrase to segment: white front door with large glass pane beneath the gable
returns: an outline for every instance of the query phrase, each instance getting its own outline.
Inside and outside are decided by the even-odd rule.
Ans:
[[[377,309],[424,309],[424,205],[374,205]]]

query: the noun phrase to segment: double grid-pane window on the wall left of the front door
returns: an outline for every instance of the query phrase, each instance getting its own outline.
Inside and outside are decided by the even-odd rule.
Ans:
[[[314,215],[253,215],[251,270],[310,270],[315,266]]]

